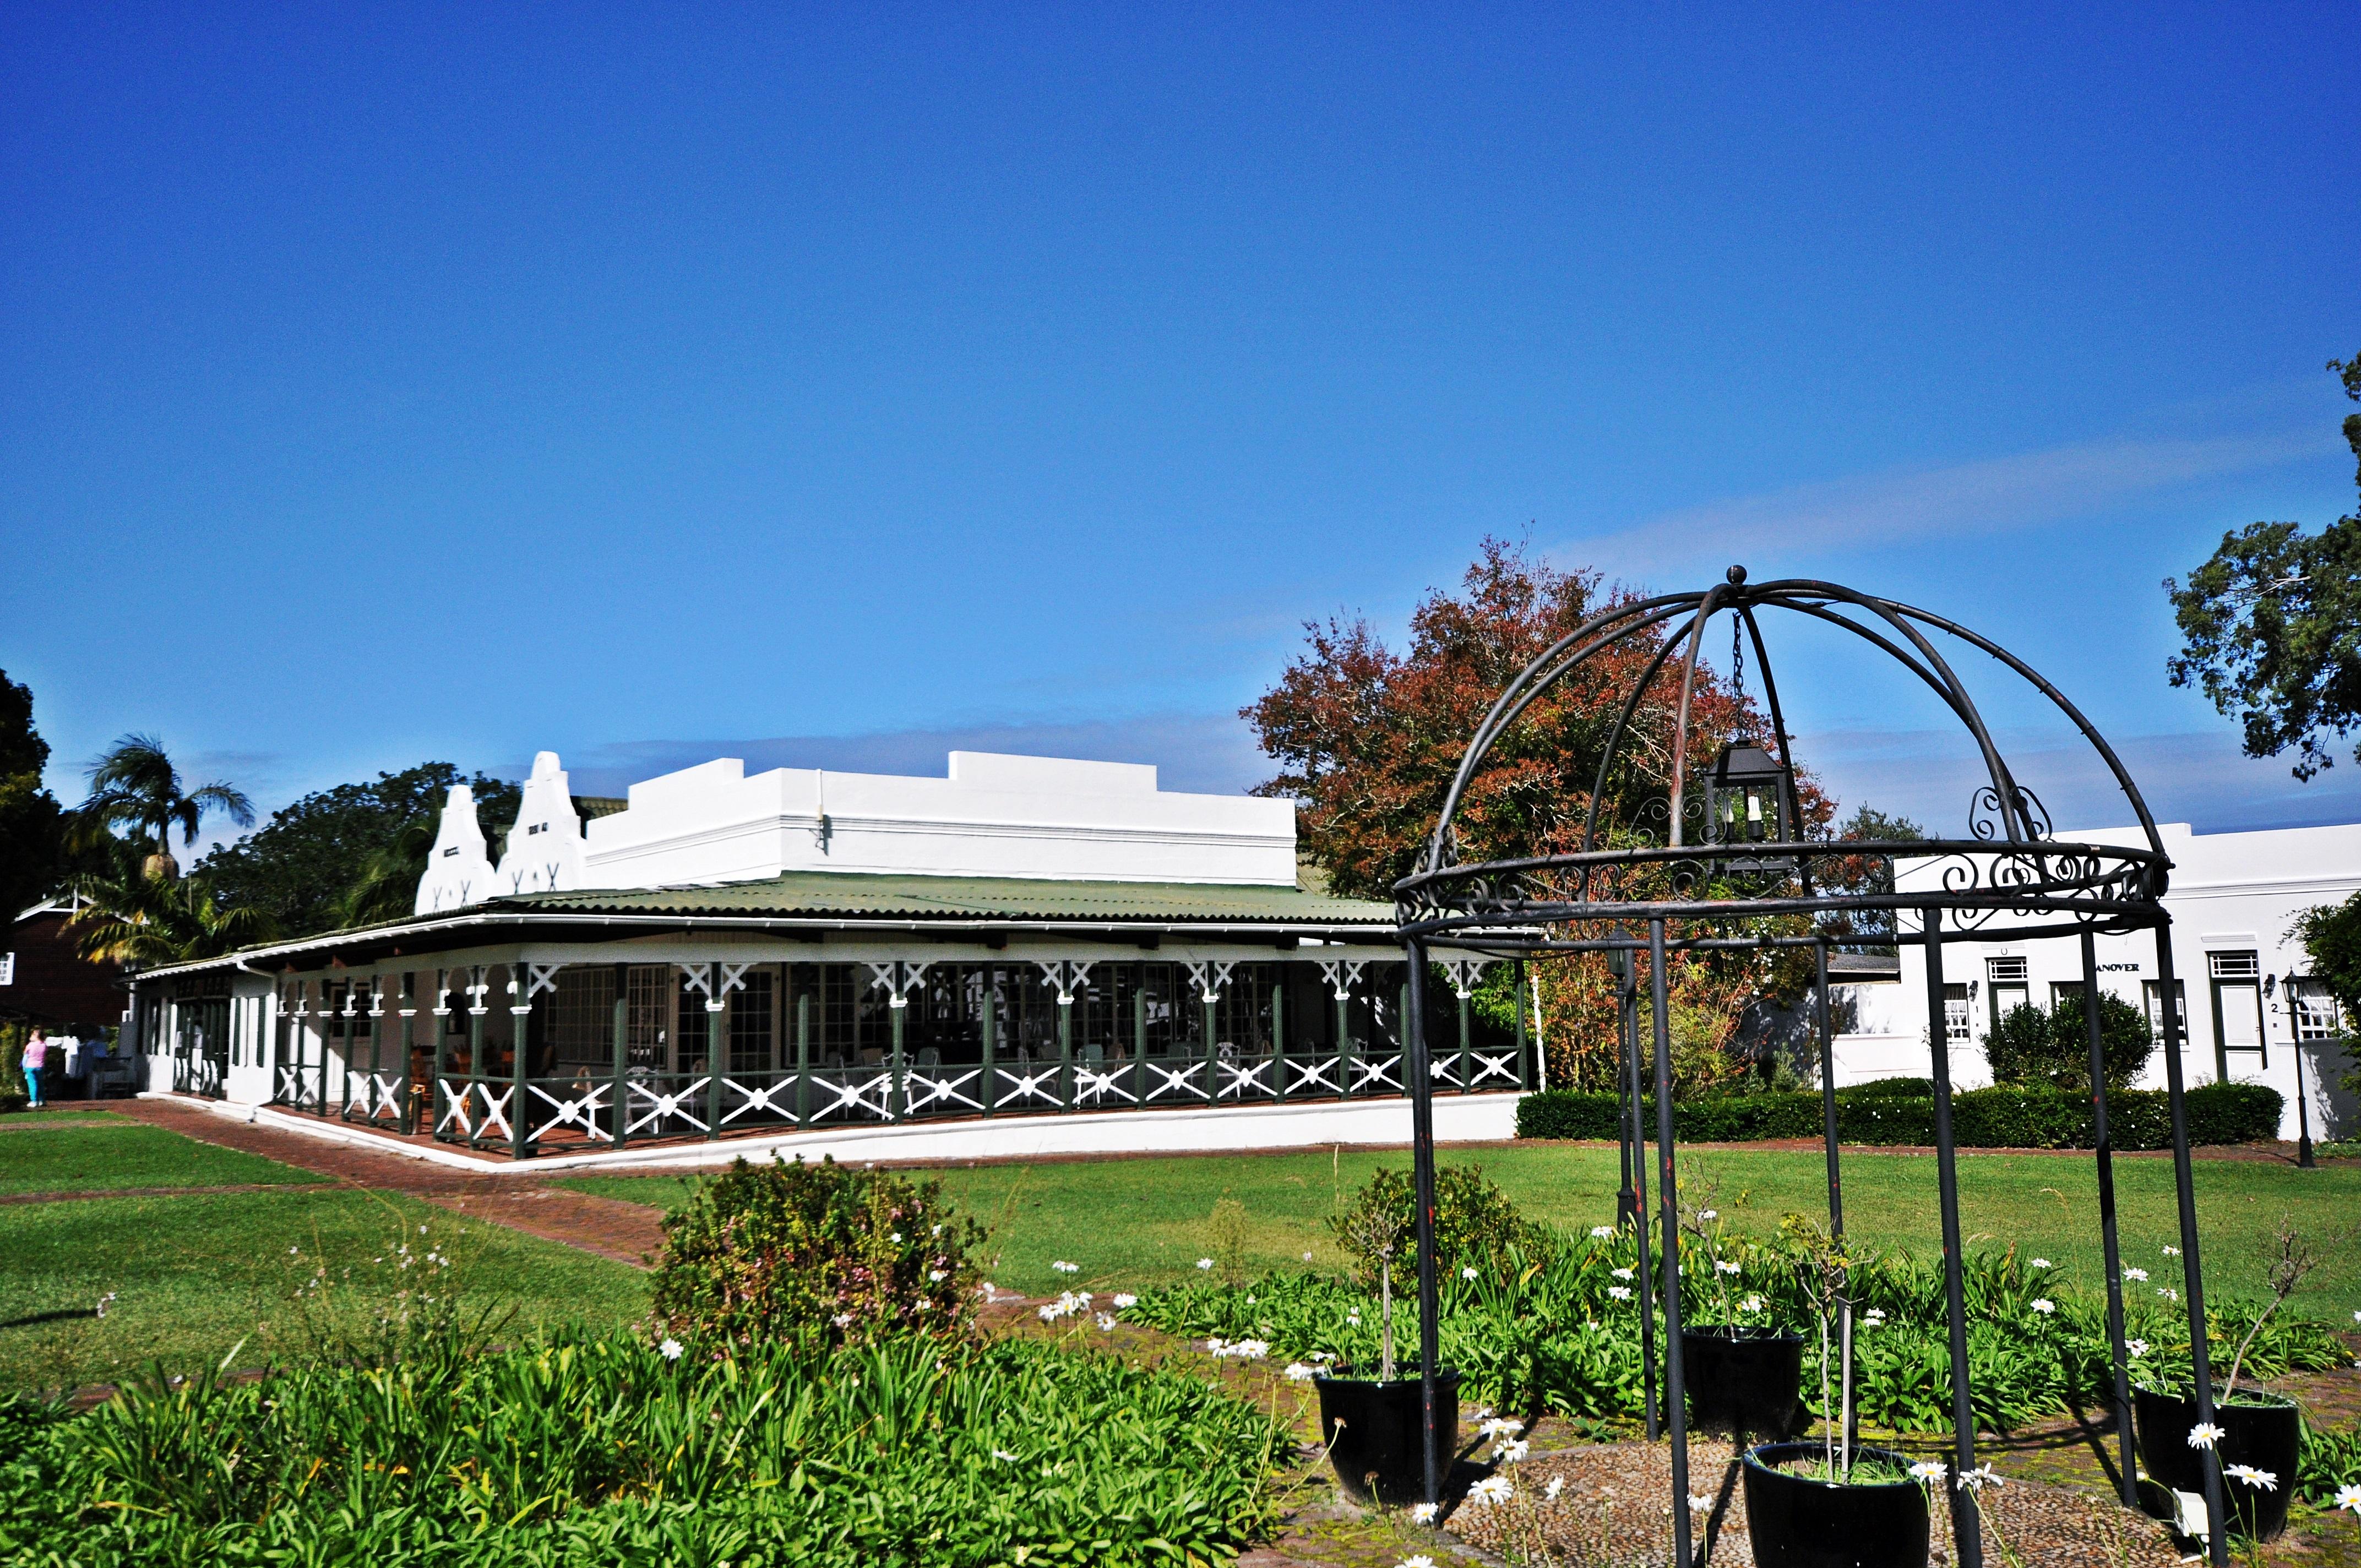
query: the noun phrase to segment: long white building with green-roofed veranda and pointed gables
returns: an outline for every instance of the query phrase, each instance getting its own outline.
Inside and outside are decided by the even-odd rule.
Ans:
[[[1289,801],[954,751],[576,803],[541,753],[484,829],[453,789],[411,919],[137,975],[149,1082],[515,1157],[1221,1108],[1284,1112],[1265,1143],[1407,1138],[1393,904],[1303,886]],[[1435,956],[1445,1119],[1506,1136],[1523,1013],[1485,1025],[1485,963]],[[1322,1103],[1353,1115],[1296,1115]],[[1166,1136],[1129,1126],[1074,1148]]]

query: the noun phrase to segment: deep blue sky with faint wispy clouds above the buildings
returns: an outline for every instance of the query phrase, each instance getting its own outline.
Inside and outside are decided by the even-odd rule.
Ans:
[[[543,746],[1237,789],[1306,616],[1530,531],[1955,614],[2158,815],[2361,817],[2165,687],[2158,588],[2354,505],[2361,12],[1565,12],[9,7],[52,784],[156,730],[264,803]],[[1908,692],[1783,668],[1842,796],[1964,810]]]

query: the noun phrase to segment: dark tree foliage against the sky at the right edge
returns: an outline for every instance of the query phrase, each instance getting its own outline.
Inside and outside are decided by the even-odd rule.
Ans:
[[[2361,354],[2328,368],[2361,401]],[[2361,413],[2344,416],[2344,442],[2361,486]],[[2330,767],[2361,727],[2361,515],[2319,534],[2252,522],[2224,534],[2186,586],[2167,576],[2165,593],[2182,628],[2165,664],[2172,685],[2196,685],[2236,718],[2248,756],[2293,749],[2297,779]]]

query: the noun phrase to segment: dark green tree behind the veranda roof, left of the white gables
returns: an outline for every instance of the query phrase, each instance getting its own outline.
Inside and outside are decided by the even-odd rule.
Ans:
[[[401,916],[425,876],[453,784],[475,791],[482,822],[515,819],[515,784],[484,775],[467,779],[451,763],[420,763],[366,784],[314,791],[196,869],[224,902],[262,909],[290,937]]]

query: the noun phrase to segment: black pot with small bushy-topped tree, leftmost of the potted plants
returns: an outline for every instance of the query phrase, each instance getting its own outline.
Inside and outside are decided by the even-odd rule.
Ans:
[[[1393,1367],[1393,1261],[1410,1254],[1417,1221],[1381,1190],[1362,1190],[1360,1202],[1334,1221],[1360,1273],[1374,1275],[1379,1301],[1376,1377],[1350,1377],[1348,1367],[1313,1374],[1320,1391],[1320,1438],[1327,1443],[1336,1481],[1360,1502],[1426,1500],[1426,1405],[1417,1377]],[[1435,1367],[1435,1429],[1443,1462],[1459,1443],[1459,1372]]]

